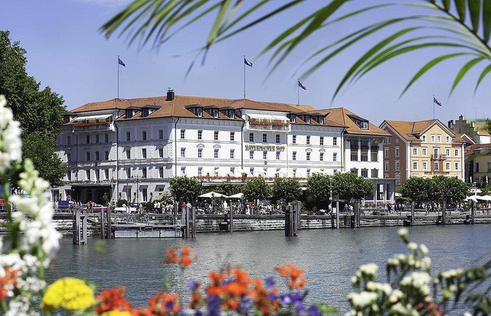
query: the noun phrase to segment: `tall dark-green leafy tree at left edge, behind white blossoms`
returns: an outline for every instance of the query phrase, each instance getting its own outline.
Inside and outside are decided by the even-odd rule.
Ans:
[[[26,50],[0,31],[0,95],[9,100],[14,119],[23,132],[23,158],[29,158],[52,186],[62,184],[66,167],[54,154],[56,136],[63,123],[63,98],[49,86],[42,88],[26,71]]]

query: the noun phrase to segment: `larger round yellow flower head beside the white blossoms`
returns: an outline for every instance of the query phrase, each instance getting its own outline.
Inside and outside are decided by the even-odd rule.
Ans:
[[[48,286],[40,307],[43,310],[54,310],[58,307],[66,310],[82,310],[95,303],[94,290],[84,281],[63,278]]]

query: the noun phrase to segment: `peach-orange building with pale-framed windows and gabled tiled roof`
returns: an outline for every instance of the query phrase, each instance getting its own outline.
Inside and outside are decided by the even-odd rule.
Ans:
[[[403,184],[411,176],[464,176],[464,140],[439,120],[385,120],[392,137],[384,145],[384,175]]]

